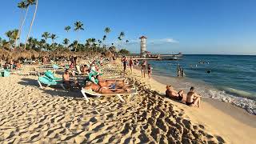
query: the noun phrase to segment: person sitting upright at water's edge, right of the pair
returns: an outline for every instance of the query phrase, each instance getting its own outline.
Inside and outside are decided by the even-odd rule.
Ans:
[[[201,95],[196,94],[194,92],[194,87],[192,86],[190,88],[190,92],[188,92],[187,96],[186,96],[186,105],[187,106],[198,106],[198,108],[200,108],[200,103],[201,103]]]

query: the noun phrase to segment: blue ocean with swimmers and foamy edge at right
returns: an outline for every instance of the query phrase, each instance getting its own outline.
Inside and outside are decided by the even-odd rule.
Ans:
[[[148,61],[155,76],[171,77],[170,84],[189,90],[195,86],[205,97],[231,102],[256,114],[256,56],[183,55],[178,61]],[[185,78],[177,78],[177,66]]]

